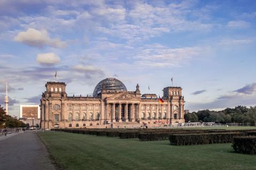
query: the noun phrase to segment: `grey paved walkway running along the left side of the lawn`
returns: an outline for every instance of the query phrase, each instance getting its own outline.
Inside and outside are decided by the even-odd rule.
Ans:
[[[36,133],[26,131],[0,137],[0,169],[56,168]]]

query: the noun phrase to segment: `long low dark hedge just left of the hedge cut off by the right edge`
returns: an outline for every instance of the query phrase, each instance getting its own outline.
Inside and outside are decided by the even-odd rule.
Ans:
[[[235,136],[243,136],[244,133],[202,133],[202,134],[171,134],[169,141],[172,145],[231,143]]]

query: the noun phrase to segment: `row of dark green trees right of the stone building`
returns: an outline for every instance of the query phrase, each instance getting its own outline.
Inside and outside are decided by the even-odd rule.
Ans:
[[[235,108],[226,108],[221,111],[199,110],[184,115],[185,122],[215,122],[215,123],[249,123],[256,125],[256,106],[247,108],[246,106],[237,106]]]

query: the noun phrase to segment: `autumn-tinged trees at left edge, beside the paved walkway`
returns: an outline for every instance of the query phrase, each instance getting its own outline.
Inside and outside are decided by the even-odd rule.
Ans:
[[[26,124],[17,119],[17,117],[12,117],[6,115],[3,107],[0,105],[0,128],[16,128],[16,127],[26,127]]]

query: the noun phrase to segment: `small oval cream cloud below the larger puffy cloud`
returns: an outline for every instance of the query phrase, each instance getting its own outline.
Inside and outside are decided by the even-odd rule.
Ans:
[[[36,61],[43,65],[54,65],[60,62],[60,58],[55,53],[37,54]]]

